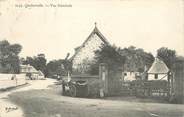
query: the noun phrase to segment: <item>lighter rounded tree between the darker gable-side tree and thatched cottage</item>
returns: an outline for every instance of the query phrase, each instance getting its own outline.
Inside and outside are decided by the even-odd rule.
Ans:
[[[147,53],[143,49],[134,46],[120,49],[119,53],[126,58],[124,64],[125,71],[143,72],[145,66],[149,68],[154,61],[151,53]]]

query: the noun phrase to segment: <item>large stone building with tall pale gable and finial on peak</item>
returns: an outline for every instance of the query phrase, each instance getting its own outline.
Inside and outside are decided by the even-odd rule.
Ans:
[[[75,48],[75,53],[71,57],[73,69],[84,73],[94,61],[95,51],[99,50],[102,45],[109,45],[109,42],[99,31],[95,23],[95,28],[91,34],[81,46]]]

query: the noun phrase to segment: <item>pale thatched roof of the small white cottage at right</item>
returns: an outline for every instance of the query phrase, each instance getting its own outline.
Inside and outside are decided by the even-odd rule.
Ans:
[[[155,58],[152,66],[148,70],[148,74],[166,74],[169,72],[167,65],[160,59]]]

